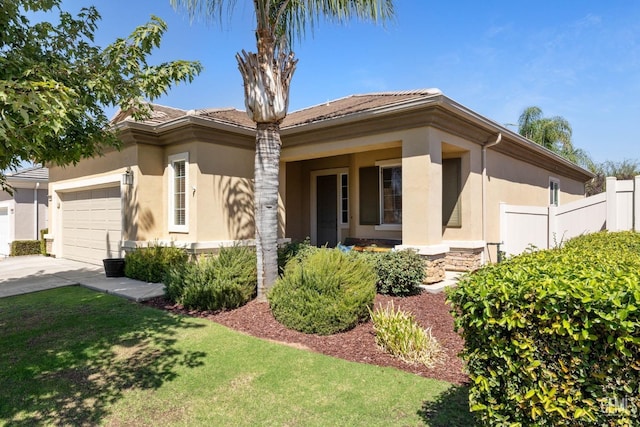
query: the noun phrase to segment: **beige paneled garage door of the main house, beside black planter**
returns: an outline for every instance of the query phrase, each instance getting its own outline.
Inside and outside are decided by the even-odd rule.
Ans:
[[[62,257],[102,264],[120,256],[120,187],[62,193]]]

